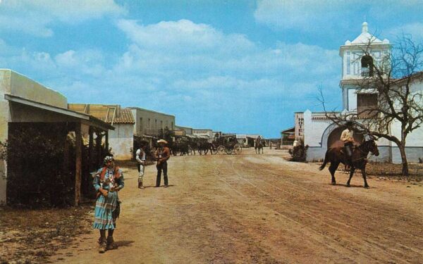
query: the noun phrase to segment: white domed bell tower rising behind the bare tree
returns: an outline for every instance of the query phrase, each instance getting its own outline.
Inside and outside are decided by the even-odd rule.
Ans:
[[[364,51],[370,56],[364,56]],[[339,49],[342,58],[340,87],[343,94],[343,109],[357,109],[357,80],[373,75],[371,63],[378,63],[391,51],[388,39],[383,41],[369,33],[367,22],[362,23],[362,33],[352,42],[347,40]]]

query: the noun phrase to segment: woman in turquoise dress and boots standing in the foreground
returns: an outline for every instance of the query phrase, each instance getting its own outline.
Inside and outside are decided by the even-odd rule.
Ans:
[[[113,157],[104,158],[104,167],[97,171],[93,185],[97,191],[93,227],[100,230],[99,253],[104,253],[114,246],[113,233],[121,211],[118,191],[125,185],[122,170],[115,166]]]

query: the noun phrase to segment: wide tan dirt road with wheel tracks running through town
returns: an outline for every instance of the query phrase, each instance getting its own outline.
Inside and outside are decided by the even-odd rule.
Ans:
[[[64,263],[422,263],[423,187],[369,179],[264,155],[183,156],[171,187],[145,190],[125,173],[118,249],[97,253],[97,232],[59,251]]]

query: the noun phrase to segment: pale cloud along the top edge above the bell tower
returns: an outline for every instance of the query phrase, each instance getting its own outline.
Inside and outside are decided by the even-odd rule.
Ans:
[[[419,17],[423,0],[259,0],[254,16],[277,30],[321,32],[348,30],[350,21],[365,19],[390,21],[398,14]],[[358,17],[359,18],[358,18]]]

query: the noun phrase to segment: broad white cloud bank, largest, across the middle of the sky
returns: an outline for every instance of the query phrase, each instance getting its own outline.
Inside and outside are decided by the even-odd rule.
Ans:
[[[227,118],[222,113],[259,119],[258,113],[269,107],[303,110],[294,102],[305,103],[321,82],[338,94],[338,51],[285,42],[268,48],[244,35],[225,34],[189,20],[154,25],[120,20],[117,25],[130,44],[123,54],[111,55],[116,59],[96,49],[25,51],[0,59],[27,76],[40,76],[38,81],[63,92],[70,102],[178,111],[178,122],[192,126]],[[256,113],[252,106],[262,111]],[[228,127],[240,125],[224,122]]]

